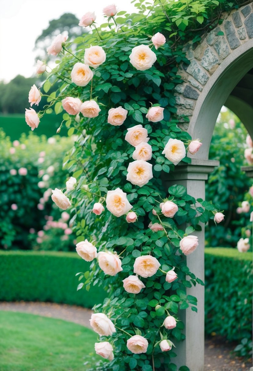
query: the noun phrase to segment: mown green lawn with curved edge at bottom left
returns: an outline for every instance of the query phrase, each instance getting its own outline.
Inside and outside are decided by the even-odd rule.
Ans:
[[[85,371],[97,335],[72,322],[0,311],[1,371]],[[93,358],[94,362],[94,358]]]

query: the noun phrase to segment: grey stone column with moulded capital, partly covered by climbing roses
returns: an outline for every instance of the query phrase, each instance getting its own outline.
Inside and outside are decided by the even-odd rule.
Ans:
[[[187,193],[195,198],[205,199],[205,181],[208,174],[219,165],[219,161],[192,159],[191,164],[178,165],[165,181],[166,187],[178,184],[184,185]],[[187,266],[194,275],[204,282],[204,246],[205,230],[194,232],[198,236],[199,246],[191,255],[186,257]],[[197,298],[198,312],[191,308],[181,311],[179,316],[185,324],[185,340],[178,343],[177,357],[172,362],[181,367],[186,365],[190,371],[204,371],[204,286],[196,285],[187,288],[187,295]]]

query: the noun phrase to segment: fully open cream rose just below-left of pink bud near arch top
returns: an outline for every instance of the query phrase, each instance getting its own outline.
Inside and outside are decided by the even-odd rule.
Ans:
[[[137,70],[145,71],[152,67],[157,60],[157,56],[149,49],[148,45],[139,45],[132,49],[129,59],[131,65]]]

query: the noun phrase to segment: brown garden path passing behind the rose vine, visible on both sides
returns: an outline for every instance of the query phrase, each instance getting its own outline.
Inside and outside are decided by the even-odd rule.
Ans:
[[[26,312],[45,317],[60,318],[65,321],[90,327],[92,311],[76,305],[43,302],[0,302],[0,311]],[[248,371],[252,361],[231,357],[230,352],[236,344],[212,337],[205,341],[204,371]]]

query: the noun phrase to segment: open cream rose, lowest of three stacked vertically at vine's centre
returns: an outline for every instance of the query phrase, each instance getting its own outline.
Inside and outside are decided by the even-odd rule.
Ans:
[[[147,184],[153,178],[152,165],[143,160],[130,162],[127,171],[126,180],[132,184],[139,185],[139,187]]]

